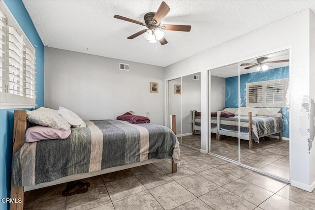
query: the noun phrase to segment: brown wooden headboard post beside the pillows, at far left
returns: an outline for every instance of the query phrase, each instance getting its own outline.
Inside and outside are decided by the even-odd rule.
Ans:
[[[25,132],[27,129],[26,110],[14,111],[14,125],[13,125],[13,154],[19,150],[25,143]],[[11,203],[11,210],[23,210],[24,203],[24,189],[22,187],[13,187],[11,180],[11,198],[14,198],[16,203]],[[18,199],[22,199],[18,203]]]

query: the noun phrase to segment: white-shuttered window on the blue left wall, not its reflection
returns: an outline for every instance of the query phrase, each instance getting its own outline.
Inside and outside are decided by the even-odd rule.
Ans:
[[[34,107],[35,49],[3,1],[0,1],[0,105]]]

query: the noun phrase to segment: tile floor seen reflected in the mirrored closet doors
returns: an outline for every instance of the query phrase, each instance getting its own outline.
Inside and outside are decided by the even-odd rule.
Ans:
[[[237,138],[221,136],[221,141],[216,141],[215,135],[212,135],[211,140],[211,152],[238,160]],[[200,149],[200,134],[183,136],[182,144]],[[249,150],[248,141],[241,140],[241,163],[289,180],[289,141],[261,140],[259,144],[253,143],[252,150]]]

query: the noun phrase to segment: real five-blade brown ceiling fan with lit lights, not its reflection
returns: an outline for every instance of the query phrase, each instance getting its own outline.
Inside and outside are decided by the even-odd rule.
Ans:
[[[161,5],[158,7],[157,12],[149,12],[144,15],[144,23],[120,15],[115,15],[114,18],[139,24],[148,28],[146,30],[140,30],[135,34],[132,34],[131,36],[127,37],[127,39],[133,39],[143,34],[144,38],[150,43],[156,43],[158,40],[161,45],[164,45],[167,44],[167,41],[164,38],[164,32],[162,30],[177,30],[189,32],[191,28],[191,26],[188,25],[161,25],[160,21],[167,15],[170,10],[171,9],[169,8],[169,6],[164,1],[162,1]]]

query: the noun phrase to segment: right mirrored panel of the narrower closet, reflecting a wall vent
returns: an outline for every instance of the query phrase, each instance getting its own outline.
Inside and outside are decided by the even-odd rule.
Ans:
[[[200,72],[182,77],[182,144],[200,150]]]

